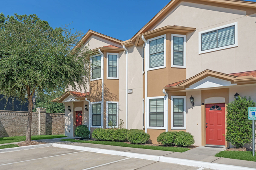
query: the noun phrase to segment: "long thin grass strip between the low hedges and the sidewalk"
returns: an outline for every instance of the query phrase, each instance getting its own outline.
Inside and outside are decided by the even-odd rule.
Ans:
[[[113,141],[79,141],[79,140],[75,140],[75,139],[62,139],[61,141],[79,142],[79,143],[93,143],[93,144],[106,144],[106,145],[111,145],[111,146],[122,146],[122,147],[130,147],[130,148],[163,150],[163,151],[171,151],[171,152],[185,152],[185,151],[189,150],[189,148],[182,148],[182,147],[150,146],[150,145],[129,144],[129,143],[113,142]]]

